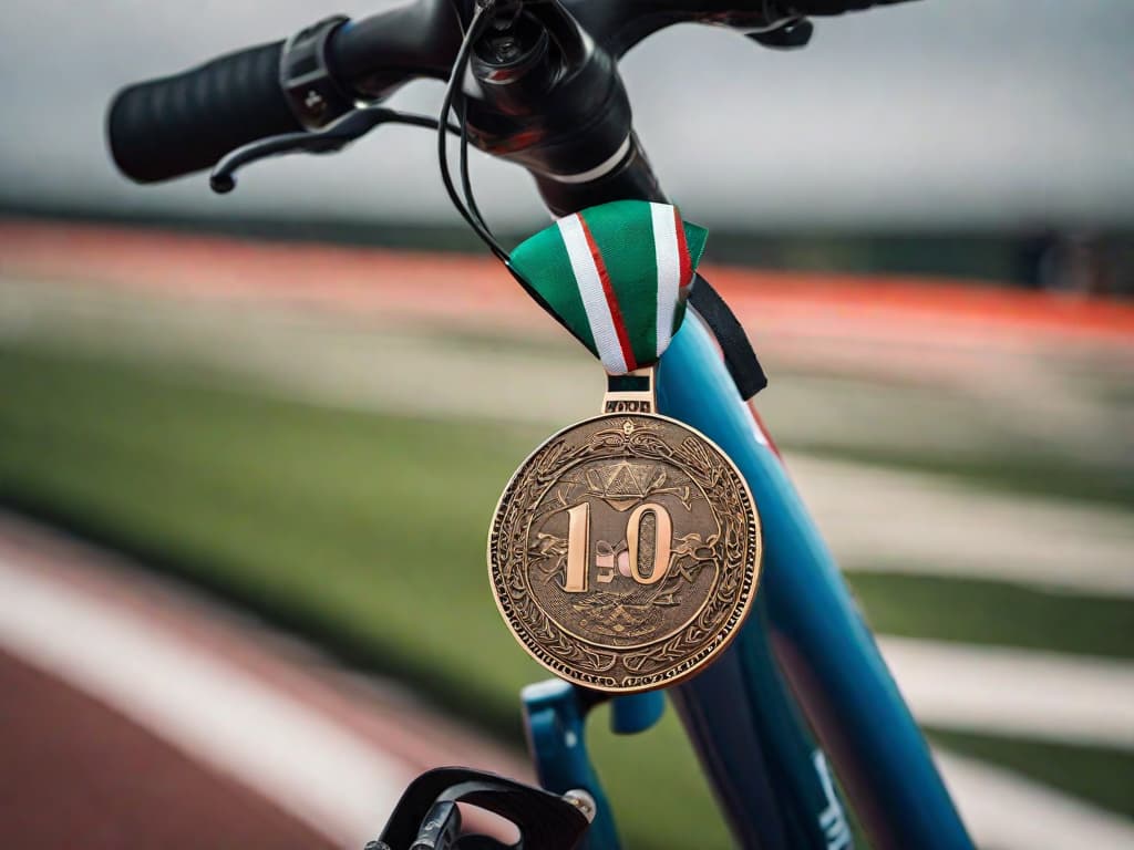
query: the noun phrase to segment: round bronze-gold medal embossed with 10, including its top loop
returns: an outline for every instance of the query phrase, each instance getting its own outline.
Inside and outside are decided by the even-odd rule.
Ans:
[[[603,415],[550,437],[505,488],[489,535],[497,605],[568,681],[665,687],[736,636],[761,537],[744,477],[711,440],[655,411],[654,369],[611,377]]]

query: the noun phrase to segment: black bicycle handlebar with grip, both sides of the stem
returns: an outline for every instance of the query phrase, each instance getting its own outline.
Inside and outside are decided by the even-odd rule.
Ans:
[[[803,16],[904,1],[562,0],[561,6],[617,60],[670,24],[759,31]],[[356,102],[380,101],[412,79],[447,78],[474,2],[415,0],[358,22],[321,22],[287,44],[263,44],[128,86],[108,116],[115,162],[138,182],[179,177],[257,139],[325,125]],[[548,0],[528,2],[540,3]],[[325,73],[312,88],[319,70]]]

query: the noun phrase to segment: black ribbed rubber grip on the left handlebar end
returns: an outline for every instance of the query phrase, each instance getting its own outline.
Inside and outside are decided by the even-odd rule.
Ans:
[[[303,129],[280,86],[284,42],[124,88],[107,134],[115,163],[137,182],[214,165],[230,151]]]

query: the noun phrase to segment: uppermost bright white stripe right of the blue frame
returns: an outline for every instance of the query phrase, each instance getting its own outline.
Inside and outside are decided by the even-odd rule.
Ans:
[[[797,453],[787,467],[844,569],[1134,598],[1128,511]]]

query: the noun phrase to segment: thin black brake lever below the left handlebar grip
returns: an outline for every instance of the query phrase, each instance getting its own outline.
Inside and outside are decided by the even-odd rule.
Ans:
[[[406,124],[437,129],[437,119],[429,116],[399,112],[387,107],[362,107],[347,112],[320,130],[285,133],[237,147],[213,168],[209,175],[209,186],[218,195],[226,195],[236,188],[236,172],[245,165],[288,153],[338,153],[383,124]],[[447,128],[449,133],[460,134],[460,128],[455,124],[448,124]]]

